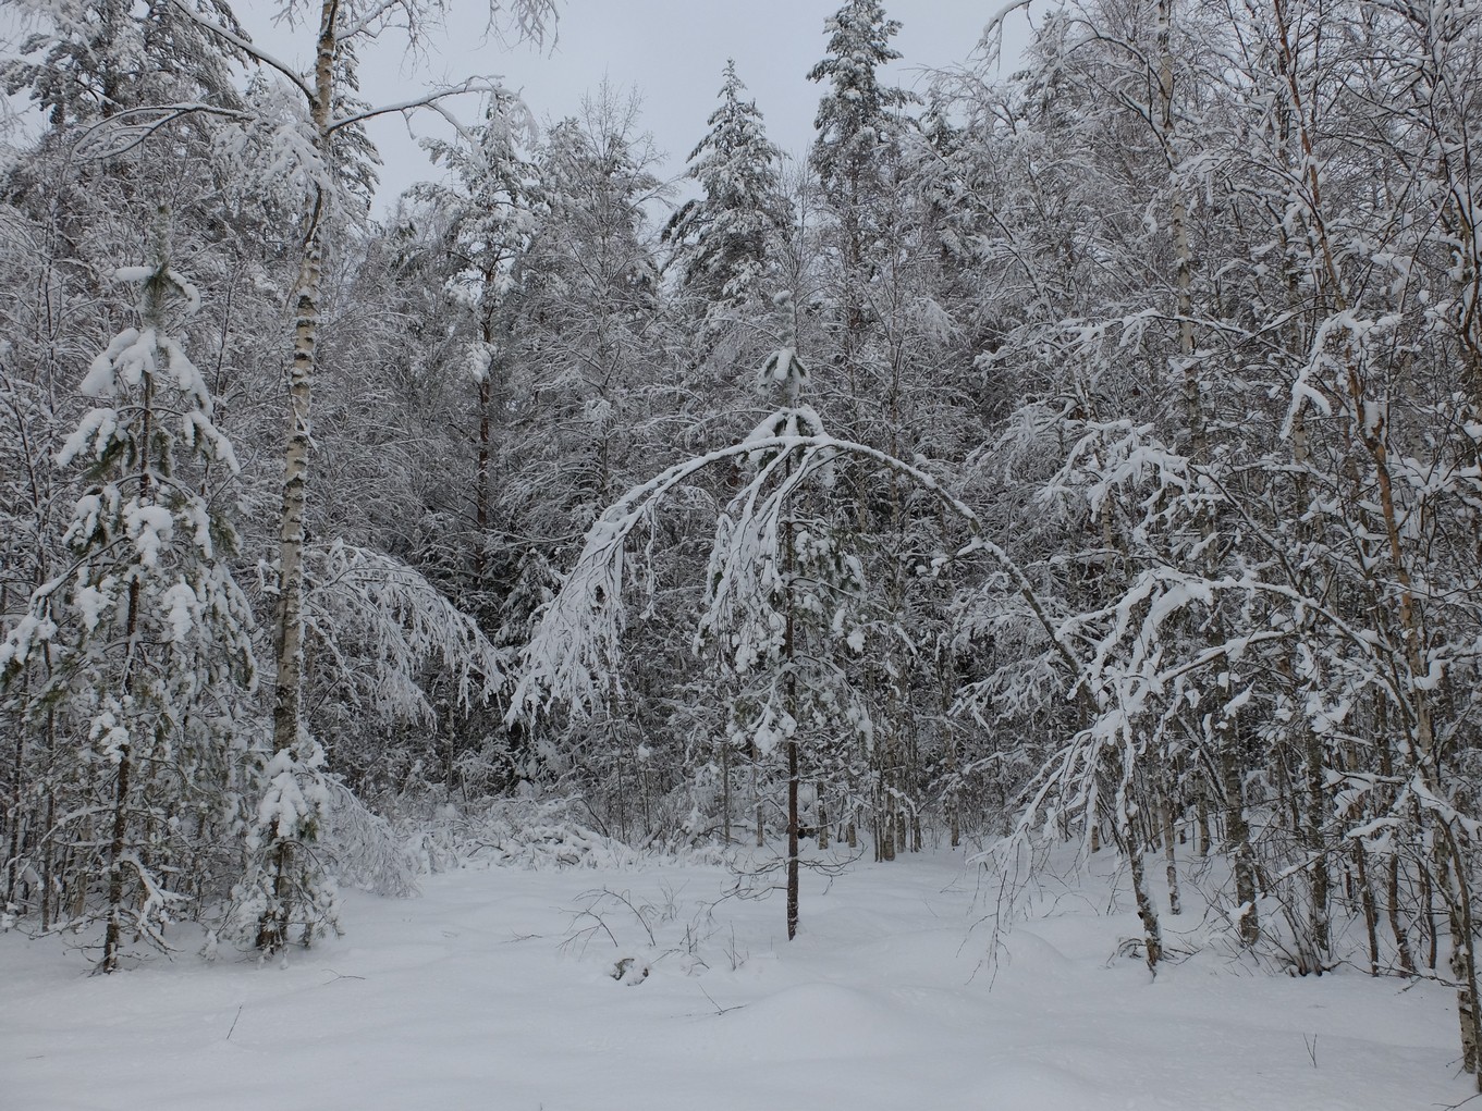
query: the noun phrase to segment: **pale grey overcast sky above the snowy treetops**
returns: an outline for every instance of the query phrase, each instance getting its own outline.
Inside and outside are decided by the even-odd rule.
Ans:
[[[619,92],[642,98],[640,129],[665,156],[662,176],[683,172],[689,151],[705,135],[726,58],[766,119],[768,135],[790,154],[802,153],[814,135],[820,86],[805,74],[824,56],[824,19],[842,0],[559,0],[554,49],[483,41],[483,0],[455,0],[449,25],[431,46],[437,55],[408,68],[399,43],[387,41],[362,59],[362,92],[373,102],[405,99],[428,81],[455,81],[468,74],[498,74],[523,92],[536,120],[578,114],[582,96],[603,77]],[[923,84],[926,68],[963,62],[977,46],[984,22],[1000,0],[919,0],[886,3],[903,30],[895,47],[904,58],[892,67],[898,84]],[[299,27],[273,27],[270,0],[234,4],[253,37],[298,62],[308,58],[313,34]],[[1020,30],[1023,19],[1018,27]],[[1014,36],[1008,43],[1012,52]],[[474,104],[462,107],[471,117]],[[415,124],[433,127],[430,120]],[[372,133],[385,161],[381,204],[430,169],[399,119],[379,121]]]

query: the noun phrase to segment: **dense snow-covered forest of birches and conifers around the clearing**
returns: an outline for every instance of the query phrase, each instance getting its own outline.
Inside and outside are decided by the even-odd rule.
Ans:
[[[723,64],[662,181],[596,81],[363,99],[448,0],[240,7],[0,0],[7,947],[276,961],[480,852],[802,941],[950,853],[980,955],[1083,875],[1138,984],[1420,985],[1482,1081],[1482,10],[1046,0],[907,90],[846,0],[806,157]]]

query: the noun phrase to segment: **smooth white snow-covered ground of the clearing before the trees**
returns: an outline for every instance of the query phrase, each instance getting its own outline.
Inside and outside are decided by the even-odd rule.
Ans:
[[[1015,927],[996,972],[991,893],[960,855],[805,877],[791,944],[780,895],[716,904],[732,883],[464,870],[416,899],[347,895],[345,936],[286,967],[187,955],[90,978],[55,939],[4,935],[0,1108],[1398,1111],[1470,1093],[1443,988],[1267,976],[1212,950],[1150,982],[1113,955],[1135,918],[1106,914],[1097,881]],[[621,957],[651,975],[615,981]]]

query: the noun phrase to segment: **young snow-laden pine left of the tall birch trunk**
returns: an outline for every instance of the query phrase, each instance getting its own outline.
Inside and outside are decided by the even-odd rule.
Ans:
[[[79,788],[107,798],[102,828],[71,834],[74,873],[52,877],[83,914],[89,884],[102,886],[102,972],[119,967],[129,930],[165,947],[191,889],[210,887],[193,861],[240,798],[255,686],[252,613],[227,564],[236,533],[210,496],[239,464],[172,336],[199,293],[163,238],[153,267],[117,277],[141,286],[139,324],[93,360],[80,388],[105,404],[59,455],[90,478],[70,566],[0,644],[0,686],[30,683],[30,717],[74,745]]]

